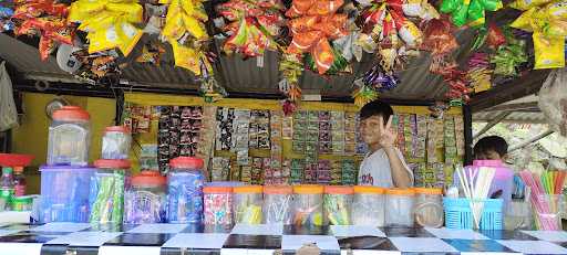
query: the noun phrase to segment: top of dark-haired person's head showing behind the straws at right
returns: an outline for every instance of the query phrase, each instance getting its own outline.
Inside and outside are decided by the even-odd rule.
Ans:
[[[480,139],[473,150],[475,159],[504,161],[508,155],[508,144],[502,137],[488,136]]]

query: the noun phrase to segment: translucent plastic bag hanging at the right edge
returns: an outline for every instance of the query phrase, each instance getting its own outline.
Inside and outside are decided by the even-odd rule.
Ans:
[[[553,70],[539,89],[539,109],[549,128],[567,136],[567,68]]]

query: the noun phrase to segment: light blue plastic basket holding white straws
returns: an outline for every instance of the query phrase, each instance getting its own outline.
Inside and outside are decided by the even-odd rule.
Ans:
[[[484,200],[483,214],[481,216],[481,230],[503,230],[503,200]],[[445,225],[453,230],[472,230],[473,212],[468,199],[443,199],[445,209]]]

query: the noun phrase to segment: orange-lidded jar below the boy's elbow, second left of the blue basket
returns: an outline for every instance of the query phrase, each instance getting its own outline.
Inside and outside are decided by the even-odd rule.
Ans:
[[[385,225],[413,227],[415,192],[412,189],[389,189],[385,194]]]

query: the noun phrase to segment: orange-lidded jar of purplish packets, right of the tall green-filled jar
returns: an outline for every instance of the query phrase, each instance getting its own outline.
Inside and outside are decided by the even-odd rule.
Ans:
[[[155,171],[143,171],[132,177],[131,187],[124,198],[124,222],[166,222],[167,179]]]

